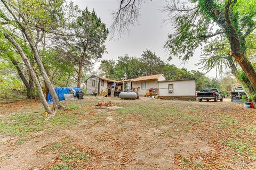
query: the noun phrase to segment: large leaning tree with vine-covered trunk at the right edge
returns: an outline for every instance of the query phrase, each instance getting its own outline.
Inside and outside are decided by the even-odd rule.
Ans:
[[[255,3],[233,0],[188,2],[189,5],[181,5],[175,1],[166,8],[171,14],[182,11],[174,18],[177,31],[169,36],[165,45],[170,54],[188,60],[196,48],[203,47],[205,57],[201,63],[207,70],[215,67],[222,71],[222,66],[226,66],[236,77],[237,62],[248,79],[242,83],[252,84],[250,91],[254,92],[256,74],[247,54],[246,39],[254,34]]]

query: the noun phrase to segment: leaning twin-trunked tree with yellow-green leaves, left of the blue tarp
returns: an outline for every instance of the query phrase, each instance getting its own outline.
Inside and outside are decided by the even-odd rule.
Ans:
[[[16,48],[20,55],[22,55],[24,60],[28,59],[24,53],[25,50],[23,50],[22,46],[17,43],[16,39],[22,37],[22,39],[28,43],[31,48],[31,52],[34,54],[35,61],[44,82],[47,84],[47,88],[49,88],[51,92],[54,109],[63,108],[45,71],[42,63],[42,57],[37,48],[38,43],[42,41],[45,33],[54,32],[59,26],[59,21],[63,19],[63,1],[41,0],[35,2],[34,0],[1,0],[1,2],[1,32],[4,33],[5,38],[13,44],[14,48]],[[12,33],[8,32],[10,28],[14,30]],[[16,29],[18,29],[18,31],[15,31]],[[29,61],[27,61],[26,66],[28,66],[27,64],[30,64],[28,62]],[[31,68],[27,69],[31,70]],[[37,85],[36,87],[41,88]],[[46,111],[49,112],[49,106],[46,105],[41,93],[39,96],[45,106]]]

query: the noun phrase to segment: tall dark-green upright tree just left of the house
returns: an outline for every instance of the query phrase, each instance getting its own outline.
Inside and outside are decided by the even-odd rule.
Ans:
[[[59,46],[64,48],[68,60],[76,65],[77,87],[81,87],[83,68],[90,68],[93,61],[106,52],[108,29],[94,10],[90,12],[85,8],[81,11],[73,3],[69,4],[68,10],[73,13],[70,21],[66,20],[67,29],[72,36],[61,36]]]

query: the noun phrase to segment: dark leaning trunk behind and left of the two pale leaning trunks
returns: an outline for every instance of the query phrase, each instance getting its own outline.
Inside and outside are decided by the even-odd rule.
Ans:
[[[20,66],[18,65],[18,62],[14,59],[11,58],[12,60],[12,64],[16,67],[17,72],[19,74],[20,79],[22,80],[22,82],[24,83],[25,87],[26,87],[26,91],[27,91],[27,98],[28,99],[34,99],[34,88],[31,87],[30,82],[27,81],[27,79],[25,78],[25,75],[22,73]]]

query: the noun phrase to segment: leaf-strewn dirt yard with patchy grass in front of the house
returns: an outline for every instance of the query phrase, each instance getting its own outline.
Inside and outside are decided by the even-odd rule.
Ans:
[[[95,106],[112,101],[118,109]],[[256,169],[256,112],[231,102],[84,97],[45,121],[0,103],[0,169]]]

